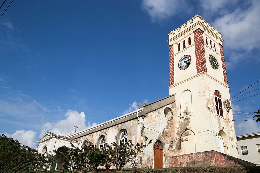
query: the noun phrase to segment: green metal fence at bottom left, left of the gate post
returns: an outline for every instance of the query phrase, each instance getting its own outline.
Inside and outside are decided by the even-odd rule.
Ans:
[[[56,158],[47,158],[45,160],[5,164],[0,168],[0,173],[54,173],[55,166]]]

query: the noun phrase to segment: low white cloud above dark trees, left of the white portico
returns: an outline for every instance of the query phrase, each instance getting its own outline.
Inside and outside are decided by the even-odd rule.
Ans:
[[[16,130],[14,134],[6,134],[7,137],[12,136],[14,140],[18,140],[22,145],[36,148],[36,134],[33,130]]]

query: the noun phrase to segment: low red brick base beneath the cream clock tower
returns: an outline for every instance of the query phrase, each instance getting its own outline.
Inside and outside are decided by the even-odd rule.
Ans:
[[[241,160],[217,151],[204,151],[199,153],[183,154],[171,157],[170,167],[227,167],[227,166],[254,166],[254,163]]]

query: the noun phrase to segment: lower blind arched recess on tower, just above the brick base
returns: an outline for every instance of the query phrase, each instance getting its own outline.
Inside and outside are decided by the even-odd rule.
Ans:
[[[185,130],[181,134],[180,149],[182,154],[196,153],[195,134],[192,130]]]

